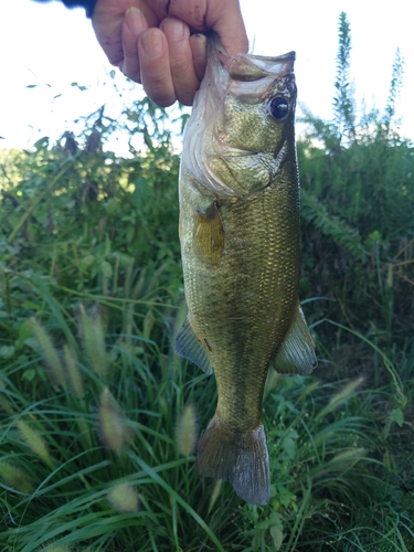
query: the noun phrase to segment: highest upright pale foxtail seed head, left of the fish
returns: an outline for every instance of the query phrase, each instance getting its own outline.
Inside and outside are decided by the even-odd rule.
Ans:
[[[108,371],[108,357],[100,317],[89,317],[81,306],[81,319],[83,341],[92,369],[96,374],[105,375]]]

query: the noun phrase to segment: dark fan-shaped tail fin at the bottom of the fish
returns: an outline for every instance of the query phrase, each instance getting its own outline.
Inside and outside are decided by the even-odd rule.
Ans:
[[[200,437],[195,467],[204,477],[230,481],[246,502],[268,502],[269,465],[263,424],[251,432],[234,432],[215,414]]]

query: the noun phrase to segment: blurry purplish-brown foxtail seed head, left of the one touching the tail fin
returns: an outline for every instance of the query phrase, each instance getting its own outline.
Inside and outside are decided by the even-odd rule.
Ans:
[[[106,447],[109,450],[119,450],[126,443],[129,433],[126,432],[125,418],[119,404],[107,388],[100,394],[98,418],[100,437]]]

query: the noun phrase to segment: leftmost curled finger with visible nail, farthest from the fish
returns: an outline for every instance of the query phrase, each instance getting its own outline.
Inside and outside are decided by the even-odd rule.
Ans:
[[[136,83],[141,82],[139,57],[138,57],[138,36],[148,29],[148,23],[144,13],[138,8],[129,8],[125,14],[123,24],[123,50],[124,62],[121,71]]]

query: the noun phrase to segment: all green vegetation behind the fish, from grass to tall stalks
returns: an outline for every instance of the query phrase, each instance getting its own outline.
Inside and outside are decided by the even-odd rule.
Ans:
[[[350,50],[342,13],[335,119],[306,112],[298,142],[319,368],[269,374],[265,507],[193,468],[215,385],[172,352],[185,306],[169,114],[145,99],[0,152],[0,550],[414,550],[403,59],[384,109],[357,109]],[[119,130],[142,135],[131,159],[103,148]]]

